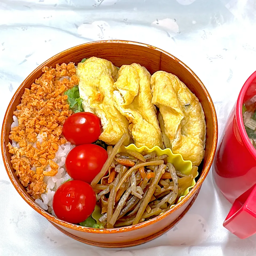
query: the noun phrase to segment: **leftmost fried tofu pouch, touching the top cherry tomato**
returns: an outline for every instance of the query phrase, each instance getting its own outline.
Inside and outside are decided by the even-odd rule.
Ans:
[[[129,122],[114,106],[113,85],[117,80],[118,69],[106,59],[91,57],[78,63],[79,93],[86,112],[96,114],[101,119],[102,133],[99,139],[115,145],[123,133],[129,134]],[[125,145],[131,143],[131,137]]]

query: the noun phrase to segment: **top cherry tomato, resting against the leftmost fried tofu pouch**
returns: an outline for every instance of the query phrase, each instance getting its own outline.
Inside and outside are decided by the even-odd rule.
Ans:
[[[89,112],[79,112],[68,117],[62,133],[67,141],[82,145],[97,141],[101,134],[100,119]]]

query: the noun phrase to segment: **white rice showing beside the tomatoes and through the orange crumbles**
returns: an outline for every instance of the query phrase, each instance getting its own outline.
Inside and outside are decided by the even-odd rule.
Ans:
[[[17,117],[13,116],[13,123],[11,124],[11,129],[15,126],[18,126],[18,119]],[[37,141],[42,143],[43,139],[47,139],[47,133],[40,133],[37,135]],[[16,141],[12,141],[12,146],[13,147],[18,147],[19,148],[19,143]],[[36,147],[36,143],[33,144],[33,147]],[[55,154],[55,158],[52,159],[57,165],[59,166],[58,168],[58,173],[53,176],[45,176],[44,177],[44,182],[47,184],[46,191],[45,193],[41,194],[41,199],[35,199],[35,202],[44,210],[48,211],[49,213],[54,214],[53,211],[53,195],[57,188],[65,181],[71,179],[71,177],[67,174],[66,169],[65,169],[65,161],[66,161],[66,156],[69,153],[71,149],[73,149],[75,145],[71,145],[70,142],[67,142],[63,145],[60,145],[58,148],[58,151]],[[36,167],[33,166],[31,170],[36,171]],[[50,171],[51,167],[47,165],[44,169],[45,171]]]

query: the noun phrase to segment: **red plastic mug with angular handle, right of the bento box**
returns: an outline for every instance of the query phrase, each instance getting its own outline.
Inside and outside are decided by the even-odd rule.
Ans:
[[[239,238],[256,233],[256,150],[245,131],[243,103],[256,95],[256,71],[243,85],[213,164],[214,180],[233,205],[223,226]]]

